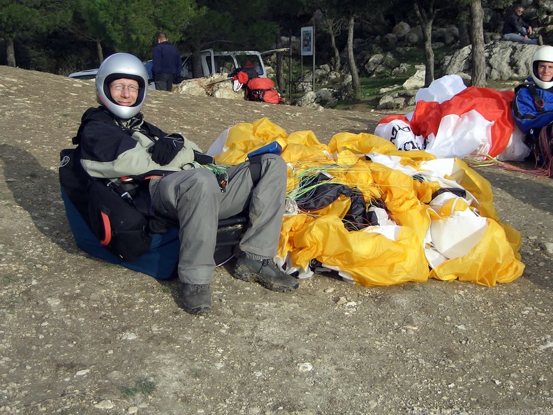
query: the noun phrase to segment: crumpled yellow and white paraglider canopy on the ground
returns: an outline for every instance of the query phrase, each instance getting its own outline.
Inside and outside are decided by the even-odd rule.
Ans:
[[[522,275],[519,232],[499,220],[489,182],[459,159],[401,152],[367,133],[339,133],[325,145],[311,131],[288,134],[267,118],[237,124],[218,141],[224,144],[216,161],[223,164],[240,163],[273,141],[283,148],[293,208],[283,219],[278,255],[300,276],[309,275],[314,260],[363,286],[429,277],[494,286]],[[322,184],[360,192],[369,208],[383,202],[377,210],[385,217],[348,230],[352,198],[343,194],[302,210],[297,201],[322,185],[302,183],[317,175],[324,175]]]

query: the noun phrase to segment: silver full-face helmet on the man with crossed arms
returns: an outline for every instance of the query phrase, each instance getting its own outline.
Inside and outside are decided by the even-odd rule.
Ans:
[[[128,78],[138,82],[138,97],[134,105],[126,107],[113,101],[110,83],[114,80]],[[113,115],[121,119],[130,119],[140,112],[148,90],[148,73],[142,61],[132,54],[116,53],[107,57],[96,75],[96,100]]]

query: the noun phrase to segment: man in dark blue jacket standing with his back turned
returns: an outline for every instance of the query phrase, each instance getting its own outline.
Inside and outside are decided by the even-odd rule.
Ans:
[[[156,89],[170,92],[173,81],[180,76],[181,68],[179,50],[167,40],[163,32],[159,32],[152,57],[152,75]]]

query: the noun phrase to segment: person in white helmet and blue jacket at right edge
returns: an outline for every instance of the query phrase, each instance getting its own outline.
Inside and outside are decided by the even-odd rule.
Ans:
[[[526,81],[515,88],[513,119],[526,133],[538,163],[550,168],[552,131],[544,127],[553,122],[553,46],[536,50],[531,62],[531,76]]]

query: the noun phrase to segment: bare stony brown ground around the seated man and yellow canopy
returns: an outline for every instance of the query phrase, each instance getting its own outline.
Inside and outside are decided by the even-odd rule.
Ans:
[[[91,105],[91,81],[0,66],[0,414],[553,414],[552,180],[480,169],[522,232],[511,284],[274,293],[218,268],[213,312],[191,316],[177,281],[73,242],[59,150]],[[327,142],[383,116],[164,92],[144,112],[205,149],[260,117]]]

